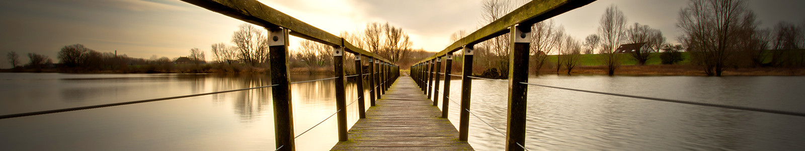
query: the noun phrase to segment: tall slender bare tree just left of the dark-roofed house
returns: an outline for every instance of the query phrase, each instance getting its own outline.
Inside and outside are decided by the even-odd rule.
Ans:
[[[613,76],[615,69],[620,66],[620,58],[617,55],[617,47],[625,39],[626,17],[617,6],[607,7],[604,15],[601,16],[601,27],[598,28],[598,35],[601,36],[602,61],[607,66],[607,75]]]

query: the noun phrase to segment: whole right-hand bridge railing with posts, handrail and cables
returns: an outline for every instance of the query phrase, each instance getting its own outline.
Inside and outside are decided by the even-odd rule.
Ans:
[[[691,102],[684,100],[669,100],[660,99],[646,96],[630,96],[623,94],[615,94],[609,92],[593,92],[587,90],[573,89],[573,88],[560,88],[554,86],[547,86],[542,84],[528,83],[528,65],[529,65],[529,45],[531,26],[536,22],[541,22],[547,18],[552,18],[556,15],[562,14],[569,10],[576,9],[580,6],[594,2],[595,0],[543,0],[532,1],[519,7],[517,10],[506,14],[502,18],[489,23],[485,27],[467,35],[463,39],[452,43],[449,47],[444,48],[443,51],[437,52],[436,55],[422,59],[418,63],[411,66],[411,77],[415,80],[416,84],[422,88],[422,91],[427,94],[428,99],[433,100],[433,105],[437,105],[440,97],[440,77],[444,76],[444,88],[441,89],[442,93],[442,117],[448,117],[449,103],[452,101],[454,104],[459,104],[449,97],[450,94],[450,80],[452,76],[461,77],[461,98],[460,98],[460,122],[459,122],[459,140],[467,141],[469,136],[469,116],[474,113],[470,110],[470,92],[472,90],[472,79],[477,80],[493,80],[473,76],[473,46],[477,43],[484,42],[488,39],[493,39],[500,35],[510,33],[510,45],[512,46],[509,54],[509,72],[508,80],[494,80],[509,83],[508,90],[508,106],[506,114],[506,133],[486,123],[485,120],[476,116],[479,120],[488,124],[497,133],[501,133],[506,137],[506,150],[524,150],[525,137],[526,137],[526,90],[527,86],[539,86],[545,88],[559,88],[576,92],[590,92],[609,96],[623,96],[630,98],[637,98],[642,100],[657,100],[664,102],[672,102],[679,104],[694,104],[701,106],[709,106],[716,108],[730,108],[752,112],[768,112],[790,116],[805,116],[803,112],[787,112],[770,110],[763,108],[749,108],[725,104],[706,104],[699,102]],[[463,50],[463,70],[461,75],[452,74],[452,59],[453,52]],[[444,63],[445,71],[442,72],[442,62]],[[436,80],[434,80],[436,79]],[[527,149],[526,149],[527,150]]]

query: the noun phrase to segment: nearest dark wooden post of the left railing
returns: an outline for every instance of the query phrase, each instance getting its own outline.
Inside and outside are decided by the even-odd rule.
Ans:
[[[278,150],[296,150],[294,145],[294,115],[291,104],[291,82],[288,75],[288,30],[270,29],[271,100],[274,104],[274,137]],[[282,146],[282,147],[280,147]]]

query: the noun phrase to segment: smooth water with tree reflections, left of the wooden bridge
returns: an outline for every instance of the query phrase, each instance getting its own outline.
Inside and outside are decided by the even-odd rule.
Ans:
[[[332,76],[292,76],[291,81]],[[295,133],[336,112],[334,80],[293,84]],[[266,75],[0,73],[0,114],[147,100],[270,85]],[[357,99],[347,84],[347,100]],[[368,92],[367,92],[368,94]],[[270,88],[0,120],[0,150],[273,150]],[[367,103],[368,106],[368,103]],[[368,108],[368,107],[367,107]],[[347,108],[357,121],[357,103]],[[336,117],[296,139],[335,145]]]

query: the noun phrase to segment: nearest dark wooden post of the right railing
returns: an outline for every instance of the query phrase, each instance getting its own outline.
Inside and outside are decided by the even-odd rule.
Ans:
[[[509,55],[509,111],[506,118],[506,150],[522,151],[526,145],[526,84],[530,26],[510,27],[512,51]],[[518,145],[519,144],[519,145]]]

